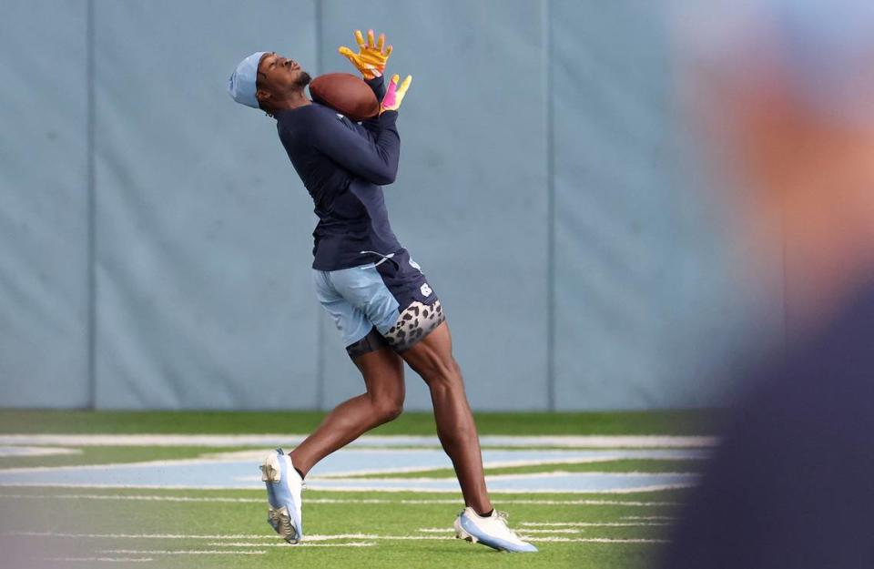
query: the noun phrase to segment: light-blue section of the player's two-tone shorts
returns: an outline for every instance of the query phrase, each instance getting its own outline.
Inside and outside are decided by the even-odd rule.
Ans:
[[[385,334],[398,320],[400,303],[374,263],[340,270],[312,270],[316,297],[337,325],[343,345],[361,340],[374,326]]]

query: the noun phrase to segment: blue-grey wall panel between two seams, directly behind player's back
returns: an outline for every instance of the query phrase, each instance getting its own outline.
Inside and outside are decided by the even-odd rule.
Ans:
[[[311,408],[311,201],[234,103],[254,51],[315,55],[311,2],[97,3],[97,404]]]

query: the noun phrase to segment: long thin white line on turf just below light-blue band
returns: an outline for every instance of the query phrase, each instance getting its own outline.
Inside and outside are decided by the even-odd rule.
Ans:
[[[109,494],[5,494],[0,493],[0,499],[36,499],[36,500],[133,500],[143,502],[215,502],[215,503],[266,503],[263,498],[222,498],[222,497],[200,497],[192,498],[187,496],[161,496],[161,495],[109,495]],[[632,502],[622,500],[499,500],[499,503],[512,504],[531,504],[531,505],[583,505],[583,506],[600,506],[600,505],[623,505],[623,506],[673,506],[679,505],[676,502]],[[412,499],[412,500],[387,500],[384,498],[308,498],[307,503],[393,503],[393,504],[411,504],[421,505],[429,503],[447,503],[461,504],[462,500],[453,499]],[[670,516],[625,516],[622,519],[674,519]]]

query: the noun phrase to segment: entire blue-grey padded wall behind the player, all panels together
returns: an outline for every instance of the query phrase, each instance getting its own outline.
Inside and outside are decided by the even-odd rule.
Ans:
[[[677,168],[655,5],[7,4],[0,406],[330,408],[361,392],[312,294],[311,200],[273,121],[225,87],[262,49],[354,72],[336,49],[368,26],[396,48],[390,72],[414,76],[386,198],[473,407],[718,402],[706,364],[743,343],[746,295]],[[408,379],[407,408],[430,408]]]

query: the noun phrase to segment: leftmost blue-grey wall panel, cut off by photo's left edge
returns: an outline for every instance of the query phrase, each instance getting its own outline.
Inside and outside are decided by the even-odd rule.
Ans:
[[[61,0],[0,16],[0,406],[90,400],[86,21]]]

